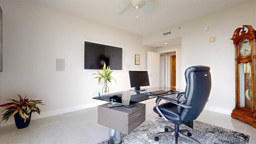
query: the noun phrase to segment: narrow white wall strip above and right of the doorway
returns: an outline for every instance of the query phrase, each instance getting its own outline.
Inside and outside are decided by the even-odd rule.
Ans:
[[[177,50],[177,55],[176,55],[176,88],[182,89],[181,82],[182,82],[182,76],[184,76],[184,72],[181,72],[181,45],[176,45],[176,46],[170,46],[170,47],[164,47],[164,48],[157,48],[157,52],[165,52],[168,50]]]

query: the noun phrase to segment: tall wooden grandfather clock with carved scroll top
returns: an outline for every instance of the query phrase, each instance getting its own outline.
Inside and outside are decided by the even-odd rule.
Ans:
[[[247,29],[247,30],[246,30]],[[256,30],[250,25],[237,28],[235,45],[236,107],[231,117],[256,128]]]

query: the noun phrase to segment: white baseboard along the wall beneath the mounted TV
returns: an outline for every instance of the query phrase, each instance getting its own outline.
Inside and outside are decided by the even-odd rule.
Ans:
[[[68,112],[74,112],[77,110],[82,110],[82,109],[86,109],[86,108],[92,108],[94,106],[99,106],[101,104],[105,104],[106,102],[104,101],[99,101],[99,102],[94,102],[94,103],[89,103],[89,104],[83,104],[83,105],[79,105],[79,106],[72,106],[72,107],[68,107],[68,108],[62,108],[62,109],[58,109],[58,110],[51,110],[48,112],[41,112],[40,115],[37,113],[34,113],[32,115],[31,120],[36,120],[38,118],[45,118],[48,116],[55,116],[58,114],[64,114],[64,113],[68,113]],[[14,124],[14,118],[10,118],[5,124],[4,122],[1,123],[1,126],[7,126],[10,124]]]

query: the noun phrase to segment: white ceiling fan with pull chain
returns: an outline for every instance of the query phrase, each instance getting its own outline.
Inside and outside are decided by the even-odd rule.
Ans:
[[[146,0],[129,0],[129,3],[118,14],[124,14],[131,6],[136,8],[136,14],[138,13],[138,8],[142,8],[147,15],[153,13],[153,10],[146,4]],[[136,18],[138,18],[138,14]]]

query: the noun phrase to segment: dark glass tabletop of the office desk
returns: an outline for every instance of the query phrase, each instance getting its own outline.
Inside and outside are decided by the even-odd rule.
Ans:
[[[160,94],[157,96],[149,93],[156,90],[165,90],[165,91],[174,90],[174,92],[168,92],[166,94]],[[171,94],[178,94],[180,92],[184,92],[184,90],[179,90],[179,89],[169,88],[169,87],[155,87],[155,88],[146,88],[146,91],[134,91],[132,89],[132,90],[126,90],[122,92],[115,92],[115,93],[106,94],[103,96],[96,96],[93,99],[109,102],[109,105],[108,105],[109,107],[118,106],[118,105],[130,106],[138,102],[142,102],[144,100],[157,98],[158,96],[167,96]]]

